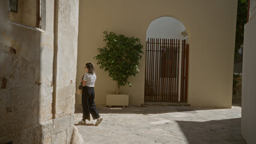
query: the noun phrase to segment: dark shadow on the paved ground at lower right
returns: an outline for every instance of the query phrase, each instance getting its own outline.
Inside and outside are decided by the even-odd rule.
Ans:
[[[218,121],[176,121],[189,143],[246,144],[241,136],[241,118]]]

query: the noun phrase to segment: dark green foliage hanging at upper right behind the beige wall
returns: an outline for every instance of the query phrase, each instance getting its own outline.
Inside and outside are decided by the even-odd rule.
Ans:
[[[247,9],[248,9],[248,0],[239,0],[237,4],[236,44],[235,44],[234,59],[237,58],[238,50],[243,44],[244,25],[247,22]]]

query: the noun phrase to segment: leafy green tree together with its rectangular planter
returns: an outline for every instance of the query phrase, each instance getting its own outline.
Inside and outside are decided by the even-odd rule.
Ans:
[[[109,77],[116,81],[115,94],[106,95],[106,106],[128,106],[129,95],[121,95],[120,86],[126,84],[132,86],[128,79],[139,71],[139,59],[142,57],[143,46],[139,38],[125,37],[107,31],[103,34],[106,46],[97,49],[99,54],[94,59],[100,68],[108,71]]]

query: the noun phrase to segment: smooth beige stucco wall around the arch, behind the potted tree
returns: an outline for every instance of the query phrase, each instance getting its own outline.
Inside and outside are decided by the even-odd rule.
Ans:
[[[188,32],[188,103],[231,107],[236,10],[237,1],[233,0],[80,1],[77,80],[84,74],[86,62],[96,64],[97,48],[105,46],[103,31],[138,37],[145,52],[148,25],[159,17],[171,16]],[[130,95],[130,105],[144,103],[145,55],[140,64],[139,74],[129,79],[133,86],[121,87],[121,92]],[[96,74],[96,104],[105,104],[107,92],[115,91],[115,82],[99,65]],[[76,103],[81,103],[81,96],[76,95]]]

